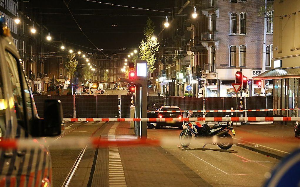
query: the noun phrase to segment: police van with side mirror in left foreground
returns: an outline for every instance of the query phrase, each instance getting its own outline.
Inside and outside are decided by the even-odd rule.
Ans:
[[[0,186],[51,186],[49,150],[35,137],[58,136],[64,128],[60,101],[47,100],[39,118],[22,60],[0,16],[0,140],[32,139],[31,149],[0,148]]]

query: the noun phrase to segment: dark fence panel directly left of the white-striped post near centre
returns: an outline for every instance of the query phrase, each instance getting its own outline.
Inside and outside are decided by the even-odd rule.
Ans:
[[[118,118],[119,117],[118,105],[119,105],[118,95],[97,95],[98,118]]]

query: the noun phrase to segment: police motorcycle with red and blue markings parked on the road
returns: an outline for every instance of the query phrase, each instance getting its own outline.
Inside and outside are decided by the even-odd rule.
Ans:
[[[204,115],[206,112],[204,113]],[[192,113],[189,113],[187,117],[190,117]],[[233,145],[232,136],[229,134],[229,130],[232,132],[233,136],[235,136],[235,130],[231,127],[232,121],[219,121],[212,127],[209,127],[208,124],[203,122],[187,122],[184,126],[187,129],[181,131],[179,135],[180,144],[182,147],[187,147],[190,145],[191,139],[194,136],[197,138],[212,138],[213,136],[217,136],[217,145],[221,149],[229,149]],[[215,143],[213,143],[215,144]],[[207,145],[207,143],[205,144]],[[204,148],[205,145],[202,147]]]

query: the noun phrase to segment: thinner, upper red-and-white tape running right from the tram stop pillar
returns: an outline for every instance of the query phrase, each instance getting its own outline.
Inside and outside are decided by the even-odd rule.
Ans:
[[[282,109],[250,109],[250,110],[148,110],[148,112],[258,112],[258,111],[279,111],[279,110],[300,110],[300,108]]]

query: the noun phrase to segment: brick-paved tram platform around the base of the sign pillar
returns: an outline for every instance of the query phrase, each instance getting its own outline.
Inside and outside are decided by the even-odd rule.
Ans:
[[[128,122],[116,130],[116,139],[124,135],[135,137]],[[119,152],[127,186],[211,186],[161,147],[119,147]]]

